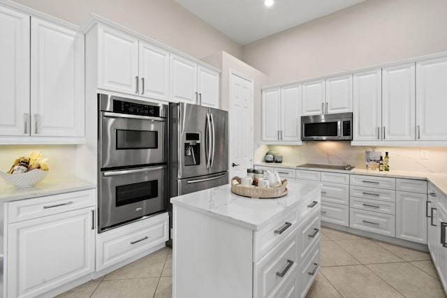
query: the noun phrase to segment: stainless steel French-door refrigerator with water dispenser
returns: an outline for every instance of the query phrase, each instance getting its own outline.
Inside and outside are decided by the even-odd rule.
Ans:
[[[170,198],[227,184],[228,112],[171,103],[169,152]]]

